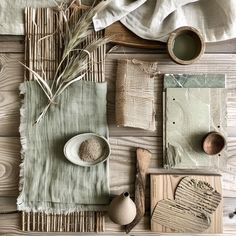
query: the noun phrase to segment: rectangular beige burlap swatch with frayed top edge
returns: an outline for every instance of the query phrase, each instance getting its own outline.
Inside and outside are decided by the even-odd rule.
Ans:
[[[154,131],[156,62],[119,60],[116,80],[116,124]]]

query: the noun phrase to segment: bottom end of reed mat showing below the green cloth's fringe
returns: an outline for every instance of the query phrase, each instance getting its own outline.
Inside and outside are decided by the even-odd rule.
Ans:
[[[38,232],[104,232],[104,212],[81,211],[69,214],[22,212],[22,230]]]

